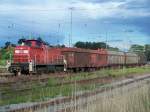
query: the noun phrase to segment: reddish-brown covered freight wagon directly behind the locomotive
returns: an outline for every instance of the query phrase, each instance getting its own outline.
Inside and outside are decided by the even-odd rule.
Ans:
[[[66,48],[62,50],[69,69],[99,68],[107,65],[106,50]]]

